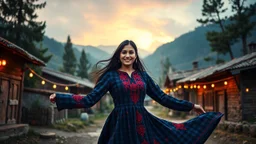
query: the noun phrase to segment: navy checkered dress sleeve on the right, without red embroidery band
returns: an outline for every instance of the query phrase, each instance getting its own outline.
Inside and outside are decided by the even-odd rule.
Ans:
[[[147,81],[146,92],[152,99],[167,108],[178,111],[190,111],[193,109],[193,103],[186,100],[179,100],[171,95],[165,94],[146,72],[144,73],[144,75]]]

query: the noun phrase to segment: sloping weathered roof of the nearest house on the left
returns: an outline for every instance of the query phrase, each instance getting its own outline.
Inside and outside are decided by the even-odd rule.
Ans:
[[[29,62],[31,62],[33,64],[40,65],[40,66],[45,66],[46,65],[42,60],[40,60],[37,57],[31,55],[30,53],[28,53],[24,49],[20,48],[19,46],[9,42],[8,40],[6,40],[2,37],[0,37],[0,46],[3,46],[3,48],[7,48],[7,49],[15,51],[21,57],[27,59]]]

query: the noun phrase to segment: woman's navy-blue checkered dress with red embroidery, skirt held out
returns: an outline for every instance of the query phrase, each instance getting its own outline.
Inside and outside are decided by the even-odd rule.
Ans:
[[[140,71],[134,71],[131,76],[118,70],[109,71],[87,96],[57,93],[57,108],[89,108],[107,91],[115,108],[106,119],[99,144],[202,144],[223,116],[219,112],[207,112],[184,123],[156,117],[143,106],[146,94],[178,111],[190,111],[194,104],[166,95],[146,72]]]

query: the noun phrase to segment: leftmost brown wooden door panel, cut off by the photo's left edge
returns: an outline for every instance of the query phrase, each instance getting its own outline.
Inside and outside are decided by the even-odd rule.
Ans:
[[[7,122],[9,85],[9,80],[0,79],[0,124],[6,124]]]

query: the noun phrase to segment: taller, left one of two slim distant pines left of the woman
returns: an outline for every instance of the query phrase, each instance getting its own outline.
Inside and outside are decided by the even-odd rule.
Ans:
[[[68,36],[67,43],[64,49],[65,50],[62,57],[63,68],[61,69],[61,71],[74,75],[76,71],[76,57],[72,48],[72,42],[71,42],[70,36]]]

